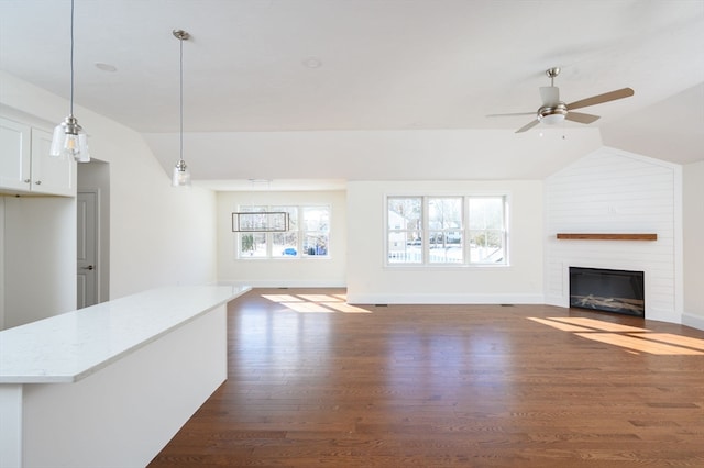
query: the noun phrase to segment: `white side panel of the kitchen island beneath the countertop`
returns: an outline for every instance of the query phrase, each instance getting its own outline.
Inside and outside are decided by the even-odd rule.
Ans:
[[[145,466],[227,378],[220,305],[75,383],[24,386],[24,466]]]

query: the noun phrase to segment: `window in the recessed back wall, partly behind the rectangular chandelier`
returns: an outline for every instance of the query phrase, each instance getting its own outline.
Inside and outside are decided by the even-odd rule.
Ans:
[[[330,207],[248,205],[239,212],[286,212],[285,232],[238,233],[239,258],[329,258]]]

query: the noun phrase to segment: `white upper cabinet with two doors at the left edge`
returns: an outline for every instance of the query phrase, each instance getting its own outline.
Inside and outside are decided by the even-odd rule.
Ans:
[[[0,118],[0,191],[76,196],[76,163],[50,156],[52,134]]]

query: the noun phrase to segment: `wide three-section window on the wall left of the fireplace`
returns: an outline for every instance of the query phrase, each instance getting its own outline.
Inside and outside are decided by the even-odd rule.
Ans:
[[[388,197],[387,265],[506,265],[506,197]]]

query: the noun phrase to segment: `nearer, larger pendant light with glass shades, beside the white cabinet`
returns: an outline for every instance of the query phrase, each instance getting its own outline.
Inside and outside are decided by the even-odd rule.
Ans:
[[[57,157],[72,157],[78,163],[90,161],[88,136],[74,116],[74,0],[70,0],[70,101],[68,116],[56,125],[52,137],[50,154]]]

